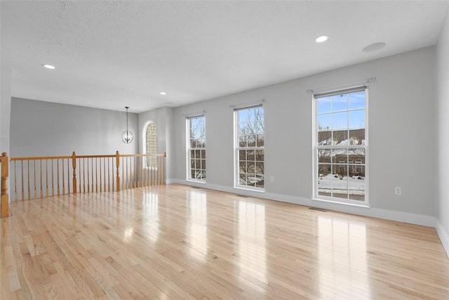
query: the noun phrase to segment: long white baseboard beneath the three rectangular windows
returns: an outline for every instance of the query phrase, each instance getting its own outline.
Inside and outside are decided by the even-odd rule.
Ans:
[[[168,181],[167,181],[168,183]],[[262,199],[288,202],[293,204],[300,204],[309,207],[319,207],[322,209],[329,209],[333,211],[340,211],[348,214],[358,214],[361,216],[370,216],[373,218],[387,219],[391,221],[398,221],[404,223],[412,223],[422,226],[435,227],[435,217],[427,216],[424,214],[410,214],[402,211],[392,211],[389,209],[377,209],[369,207],[357,207],[352,205],[338,204],[332,202],[321,202],[317,200],[311,200],[304,197],[296,197],[291,195],[283,195],[277,193],[260,193],[252,190],[243,190],[241,188],[230,188],[223,185],[214,185],[210,183],[194,183],[191,181],[185,181],[180,179],[171,179],[170,183],[179,183],[183,185],[191,185],[199,188],[208,188],[210,190],[220,190],[227,193],[235,193],[239,195],[246,195],[250,197],[259,197]],[[446,235],[447,238],[447,235]],[[448,247],[449,248],[449,247]],[[447,249],[446,251],[447,251]]]

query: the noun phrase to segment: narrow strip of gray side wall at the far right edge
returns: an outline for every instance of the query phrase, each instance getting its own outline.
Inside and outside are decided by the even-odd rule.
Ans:
[[[449,256],[449,11],[436,47],[436,230]]]

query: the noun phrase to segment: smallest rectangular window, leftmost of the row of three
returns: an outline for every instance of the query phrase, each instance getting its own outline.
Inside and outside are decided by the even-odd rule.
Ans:
[[[187,179],[206,181],[206,117],[187,118]]]

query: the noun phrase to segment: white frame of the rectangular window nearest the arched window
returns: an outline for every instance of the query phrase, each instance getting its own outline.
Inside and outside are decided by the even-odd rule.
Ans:
[[[204,124],[204,126],[203,126],[203,130],[204,130],[204,137],[203,137],[204,146],[203,147],[192,147],[192,144],[191,144],[191,140],[192,140],[192,135],[191,135],[191,133],[192,133],[192,131],[191,131],[192,119],[199,119],[199,118],[203,118],[204,119],[204,121],[203,121],[203,124]],[[187,164],[186,164],[186,180],[187,181],[194,181],[196,183],[206,183],[206,178],[207,178],[206,115],[205,114],[192,115],[192,116],[186,117],[185,119],[186,119],[186,150],[187,150],[187,152],[186,152],[186,161],[187,161]],[[191,164],[192,151],[194,151],[195,153],[196,153],[196,151],[200,152],[200,157],[199,158],[197,158],[197,157],[193,158],[194,162],[195,162],[194,170],[199,170],[200,172],[203,171],[204,175],[205,175],[204,177],[201,175],[200,178],[192,178],[192,164]],[[204,157],[202,155],[202,152],[204,152]],[[200,160],[200,163],[201,163],[200,169],[196,168],[196,161],[198,159]],[[202,164],[203,163],[206,164],[206,168],[205,169],[202,169]]]

